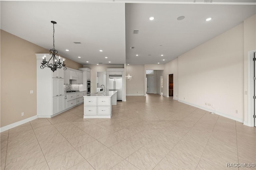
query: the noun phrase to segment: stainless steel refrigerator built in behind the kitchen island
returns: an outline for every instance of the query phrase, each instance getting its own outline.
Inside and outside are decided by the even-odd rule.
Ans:
[[[122,75],[109,75],[109,90],[117,91],[117,100],[122,101],[123,80]]]

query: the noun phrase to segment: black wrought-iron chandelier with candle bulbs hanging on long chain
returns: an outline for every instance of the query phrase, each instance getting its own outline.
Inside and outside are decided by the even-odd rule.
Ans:
[[[52,57],[49,59],[49,61],[45,61],[46,60],[46,56],[44,55],[43,57],[43,61],[42,61],[42,65],[40,66],[41,69],[44,69],[45,67],[48,67],[52,70],[52,72],[54,72],[55,70],[57,70],[57,68],[62,68],[63,70],[66,70],[66,64],[64,64],[64,60],[63,59],[63,64],[60,62],[60,56],[59,59],[56,58],[58,51],[54,48],[54,24],[56,24],[55,21],[51,21],[51,23],[53,23],[53,48],[50,49],[50,55],[52,55]]]

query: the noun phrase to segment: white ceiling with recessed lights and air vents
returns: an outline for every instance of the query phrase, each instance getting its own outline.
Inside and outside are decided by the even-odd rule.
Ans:
[[[256,13],[255,1],[82,1],[0,1],[1,29],[51,49],[54,20],[55,49],[63,57],[81,64],[164,64]]]

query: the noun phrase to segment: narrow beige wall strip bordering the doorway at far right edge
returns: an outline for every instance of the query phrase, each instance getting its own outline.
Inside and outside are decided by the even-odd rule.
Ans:
[[[248,92],[248,51],[256,49],[256,15],[244,20],[244,92]],[[248,95],[244,93],[244,121],[248,121]]]

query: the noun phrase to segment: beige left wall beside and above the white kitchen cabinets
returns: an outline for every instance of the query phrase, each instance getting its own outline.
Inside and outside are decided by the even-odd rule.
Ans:
[[[1,115],[0,127],[35,116],[36,53],[48,53],[38,45],[1,30]],[[67,59],[70,68],[81,64]],[[34,90],[30,94],[30,90]],[[24,116],[21,116],[24,112]]]

